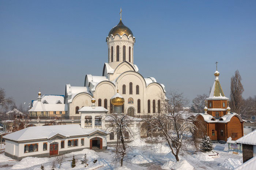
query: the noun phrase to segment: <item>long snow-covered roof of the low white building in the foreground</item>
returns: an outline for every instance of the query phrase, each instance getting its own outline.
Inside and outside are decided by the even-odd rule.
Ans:
[[[31,126],[14,133],[10,133],[4,136],[6,140],[14,140],[17,142],[26,140],[42,140],[50,139],[55,135],[61,135],[63,137],[72,137],[79,135],[90,135],[93,132],[101,132],[107,134],[102,129],[83,129],[80,125],[52,125],[52,126]]]

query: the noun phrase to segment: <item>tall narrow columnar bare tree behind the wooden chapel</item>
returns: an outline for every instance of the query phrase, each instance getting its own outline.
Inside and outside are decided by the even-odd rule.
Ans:
[[[244,87],[241,80],[242,78],[237,70],[235,75],[231,77],[230,82],[230,108],[232,112],[237,114],[240,114],[240,109],[242,106],[242,93],[244,92]]]

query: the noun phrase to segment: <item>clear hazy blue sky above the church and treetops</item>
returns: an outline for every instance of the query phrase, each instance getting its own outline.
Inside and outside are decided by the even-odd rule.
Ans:
[[[218,61],[229,97],[238,69],[256,95],[256,1],[0,0],[0,87],[16,105],[102,75],[106,36],[120,19],[136,37],[134,64],[166,90],[208,94]]]

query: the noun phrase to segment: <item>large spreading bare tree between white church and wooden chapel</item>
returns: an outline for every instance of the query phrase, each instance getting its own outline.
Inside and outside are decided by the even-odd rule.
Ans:
[[[192,143],[193,133],[197,128],[193,124],[193,118],[185,107],[188,100],[178,91],[170,91],[161,95],[161,107],[168,109],[168,113],[154,113],[151,118],[145,119],[148,136],[161,142],[167,142],[172,154],[179,161],[178,154],[185,141]]]

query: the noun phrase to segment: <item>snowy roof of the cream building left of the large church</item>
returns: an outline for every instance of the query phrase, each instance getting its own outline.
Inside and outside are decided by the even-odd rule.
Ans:
[[[67,104],[44,104],[42,101],[34,101],[29,112],[68,111]]]

